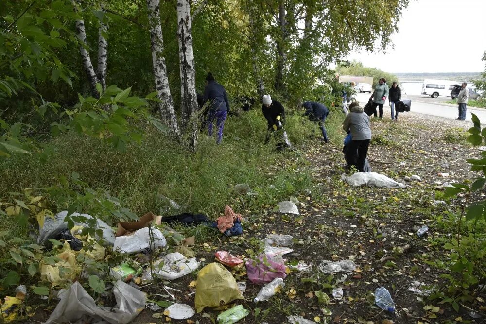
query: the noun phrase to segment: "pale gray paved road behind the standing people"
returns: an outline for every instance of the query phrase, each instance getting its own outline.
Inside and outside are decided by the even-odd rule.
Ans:
[[[441,104],[436,104],[436,103],[417,102],[417,100],[414,101],[413,97],[417,97],[417,96],[403,95],[402,99],[412,99],[412,109],[411,110],[416,112],[416,113],[445,117],[445,118],[449,118],[449,119],[455,119],[458,116],[457,106],[441,105]],[[366,93],[366,94],[358,93],[356,95],[356,99],[359,102],[366,104],[366,102],[368,102],[368,99],[369,99],[369,94],[368,93]],[[432,99],[432,98],[430,98],[430,99]],[[483,125],[486,124],[486,109],[481,109],[481,108],[469,109],[469,107],[468,107],[466,120],[469,120],[469,121],[471,120],[471,112],[473,112],[474,114],[476,114],[476,116],[478,116],[479,120],[481,121],[481,124],[483,124]],[[390,117],[390,106],[388,106],[388,101],[385,102],[385,105],[383,107],[383,116],[385,118],[391,118]]]

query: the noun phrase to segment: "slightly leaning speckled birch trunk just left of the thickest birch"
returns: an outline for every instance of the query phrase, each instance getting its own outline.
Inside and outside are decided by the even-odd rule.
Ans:
[[[169,88],[169,77],[163,56],[164,41],[162,38],[162,27],[160,26],[160,2],[159,0],[146,0],[150,24],[150,39],[152,50],[152,63],[154,70],[155,87],[162,121],[169,126],[172,134],[180,138],[180,130],[174,112],[171,89]]]

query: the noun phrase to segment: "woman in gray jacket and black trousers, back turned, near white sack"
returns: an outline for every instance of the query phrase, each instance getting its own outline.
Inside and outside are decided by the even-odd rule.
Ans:
[[[349,150],[353,153],[353,165],[360,172],[364,172],[364,160],[368,154],[369,141],[371,140],[371,128],[369,128],[369,117],[364,113],[358,102],[349,105],[351,112],[344,119],[343,129],[346,133],[351,132],[351,143]]]

